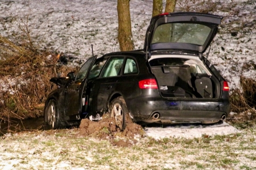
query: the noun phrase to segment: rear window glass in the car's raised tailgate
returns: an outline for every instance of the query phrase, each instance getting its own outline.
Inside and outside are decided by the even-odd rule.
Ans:
[[[155,29],[151,44],[160,42],[183,42],[204,45],[211,28],[195,23],[167,23]]]

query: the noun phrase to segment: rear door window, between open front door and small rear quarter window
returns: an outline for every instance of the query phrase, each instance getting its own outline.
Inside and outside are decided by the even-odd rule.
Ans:
[[[120,70],[122,68],[123,58],[115,57],[110,58],[106,64],[106,67],[102,71],[102,77],[112,77],[120,75]]]

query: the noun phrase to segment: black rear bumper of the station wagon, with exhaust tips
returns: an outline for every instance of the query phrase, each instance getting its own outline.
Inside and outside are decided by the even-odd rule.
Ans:
[[[147,123],[216,123],[225,121],[230,112],[228,100],[178,101],[143,97],[130,100],[127,106],[135,122]]]

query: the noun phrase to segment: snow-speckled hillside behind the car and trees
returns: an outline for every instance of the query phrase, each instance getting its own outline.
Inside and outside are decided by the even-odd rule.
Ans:
[[[181,0],[176,11],[200,11],[215,5],[213,14],[223,16],[209,54],[210,61],[229,82],[231,89],[240,87],[240,76],[255,77],[256,2],[254,0],[200,1]],[[204,1],[207,2],[207,1]],[[135,49],[144,46],[144,37],[152,13],[152,0],[131,0],[130,15]],[[16,0],[0,2],[0,32],[12,41],[22,40],[20,28],[28,29],[39,48],[64,53],[78,65],[94,54],[119,51],[117,41],[116,0]],[[184,10],[183,10],[184,11]],[[206,51],[207,52],[207,51]],[[10,84],[18,84],[15,79]],[[2,82],[3,84],[3,82]],[[9,90],[0,86],[0,90]]]

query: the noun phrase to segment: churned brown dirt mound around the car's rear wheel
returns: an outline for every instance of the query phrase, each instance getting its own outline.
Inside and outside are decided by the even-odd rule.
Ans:
[[[131,146],[136,143],[134,137],[143,137],[144,131],[142,127],[133,123],[126,116],[126,129],[123,131],[115,124],[114,118],[103,118],[98,122],[82,119],[79,131],[82,136],[93,136],[99,139],[109,139],[116,146]]]

